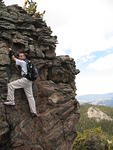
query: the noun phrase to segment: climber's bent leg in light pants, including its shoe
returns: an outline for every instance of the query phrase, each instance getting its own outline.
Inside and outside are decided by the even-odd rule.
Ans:
[[[15,105],[14,102],[14,91],[15,89],[23,88],[25,85],[25,78],[18,79],[16,81],[8,83],[8,94],[7,94],[7,101],[4,102],[6,105]]]

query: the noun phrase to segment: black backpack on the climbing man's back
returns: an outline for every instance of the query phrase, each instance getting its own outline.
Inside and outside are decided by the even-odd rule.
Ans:
[[[25,60],[27,64],[27,75],[26,78],[30,81],[34,81],[39,76],[37,67],[30,61]]]

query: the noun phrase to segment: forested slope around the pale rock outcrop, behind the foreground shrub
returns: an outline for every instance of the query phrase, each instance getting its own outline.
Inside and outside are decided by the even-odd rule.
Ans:
[[[80,107],[80,120],[77,124],[77,131],[83,132],[86,129],[92,129],[92,128],[98,128],[101,127],[102,131],[105,134],[108,134],[109,136],[113,136],[113,121],[108,120],[100,120],[97,122],[95,119],[88,118],[88,108],[90,108],[92,105],[90,104],[84,104]],[[106,106],[94,106],[98,109],[100,109],[102,112],[106,113],[108,116],[113,118],[113,108],[106,107]]]

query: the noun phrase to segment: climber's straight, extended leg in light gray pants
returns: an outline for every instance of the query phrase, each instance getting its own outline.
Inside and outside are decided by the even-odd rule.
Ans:
[[[24,91],[25,91],[25,94],[26,94],[28,102],[29,102],[29,107],[30,107],[31,113],[37,114],[36,104],[35,104],[35,100],[33,97],[32,82],[31,81],[28,80],[28,84],[26,85],[26,87],[24,87]]]

